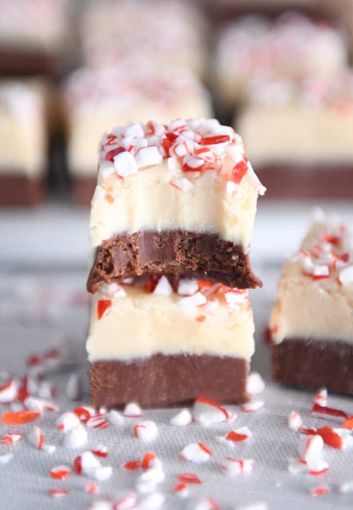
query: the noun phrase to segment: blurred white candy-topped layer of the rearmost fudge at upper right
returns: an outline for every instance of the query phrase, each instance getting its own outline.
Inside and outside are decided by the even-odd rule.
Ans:
[[[221,33],[216,88],[224,103],[233,104],[244,97],[250,78],[328,75],[346,63],[345,41],[338,29],[300,14],[288,13],[275,21],[250,15]]]

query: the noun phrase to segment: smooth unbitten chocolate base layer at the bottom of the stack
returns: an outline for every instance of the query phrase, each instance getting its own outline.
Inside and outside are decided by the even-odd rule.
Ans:
[[[249,364],[240,358],[210,355],[154,354],[126,364],[97,361],[91,371],[91,395],[95,407],[123,407],[138,402],[142,407],[190,405],[197,397],[219,403],[248,400]]]

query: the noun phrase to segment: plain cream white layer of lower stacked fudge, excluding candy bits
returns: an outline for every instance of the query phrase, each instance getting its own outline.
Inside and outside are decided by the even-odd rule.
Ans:
[[[254,353],[254,322],[248,300],[231,307],[224,296],[216,294],[212,298],[218,301],[218,307],[214,307],[216,301],[207,301],[202,306],[183,309],[178,304],[183,298],[175,293],[156,295],[127,286],[124,290],[125,297],[112,297],[100,291],[94,295],[87,340],[91,363],[129,361],[155,353],[210,354],[250,360]],[[110,299],[112,307],[98,320],[100,299]]]

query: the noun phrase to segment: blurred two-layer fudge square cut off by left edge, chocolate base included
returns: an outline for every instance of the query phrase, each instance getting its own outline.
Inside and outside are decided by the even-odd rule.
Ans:
[[[39,82],[0,84],[0,206],[35,205],[46,166],[46,92]]]

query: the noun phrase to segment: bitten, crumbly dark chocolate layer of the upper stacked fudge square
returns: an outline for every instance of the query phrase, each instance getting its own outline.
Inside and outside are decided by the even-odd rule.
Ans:
[[[241,246],[216,234],[186,231],[138,232],[103,241],[96,252],[87,289],[132,275],[194,272],[199,278],[239,289],[261,287]]]

